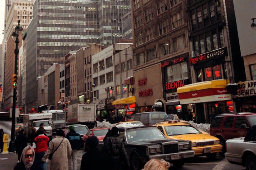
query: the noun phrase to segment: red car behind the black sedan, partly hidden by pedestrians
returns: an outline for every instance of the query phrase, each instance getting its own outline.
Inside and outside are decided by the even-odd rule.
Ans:
[[[84,143],[86,142],[86,139],[90,136],[96,136],[99,139],[99,142],[103,141],[105,135],[107,134],[108,130],[110,128],[98,128],[98,129],[90,129],[84,136],[83,140]],[[85,144],[84,144],[85,149]]]

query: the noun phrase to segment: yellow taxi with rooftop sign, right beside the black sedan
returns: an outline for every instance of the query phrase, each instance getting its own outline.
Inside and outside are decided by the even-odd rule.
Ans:
[[[170,115],[166,115],[167,117]],[[202,133],[199,129],[188,122],[180,121],[177,115],[171,115],[170,119],[153,125],[158,128],[167,138],[178,140],[189,140],[192,142],[195,156],[206,155],[209,159],[214,159],[217,152],[220,152],[222,145],[217,137],[208,133]]]

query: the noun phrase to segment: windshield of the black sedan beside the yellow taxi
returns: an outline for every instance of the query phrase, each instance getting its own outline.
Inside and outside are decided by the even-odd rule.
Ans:
[[[127,142],[148,140],[148,139],[162,139],[164,135],[157,128],[138,128],[126,130]]]

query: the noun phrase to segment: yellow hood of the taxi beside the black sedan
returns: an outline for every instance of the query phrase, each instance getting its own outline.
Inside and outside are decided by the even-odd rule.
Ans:
[[[198,141],[209,141],[209,140],[219,140],[217,137],[211,136],[211,135],[205,135],[205,134],[187,134],[187,135],[173,135],[169,136],[170,139],[179,139],[179,140],[189,140],[192,143],[198,142]]]

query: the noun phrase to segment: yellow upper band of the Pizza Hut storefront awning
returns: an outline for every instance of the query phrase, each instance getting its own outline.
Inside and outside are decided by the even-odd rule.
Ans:
[[[214,88],[223,88],[229,83],[229,80],[212,80],[212,81],[204,81],[193,84],[188,84],[183,87],[179,87],[177,89],[177,93],[185,93],[196,90],[203,89],[214,89]]]

